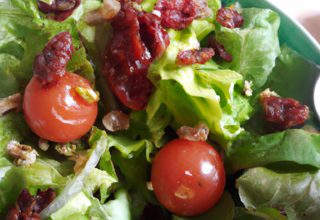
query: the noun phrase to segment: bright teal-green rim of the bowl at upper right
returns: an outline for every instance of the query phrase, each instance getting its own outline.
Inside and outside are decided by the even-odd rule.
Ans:
[[[225,2],[226,5],[230,5],[235,0],[225,0]],[[296,20],[290,18],[267,0],[238,0],[238,2],[242,7],[269,8],[276,12],[281,19],[278,30],[280,45],[286,42],[288,46],[302,56],[320,65],[320,45]]]

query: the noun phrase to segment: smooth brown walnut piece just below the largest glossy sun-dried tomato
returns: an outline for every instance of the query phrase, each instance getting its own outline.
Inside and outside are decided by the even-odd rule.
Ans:
[[[110,131],[127,130],[130,125],[130,115],[119,110],[110,111],[102,118],[102,123]]]

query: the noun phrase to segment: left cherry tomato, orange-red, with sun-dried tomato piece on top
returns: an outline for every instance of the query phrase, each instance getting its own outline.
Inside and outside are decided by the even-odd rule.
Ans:
[[[55,142],[69,142],[89,131],[97,103],[89,104],[74,90],[76,86],[90,86],[89,82],[71,72],[51,84],[42,82],[33,76],[24,92],[23,113],[32,131]]]

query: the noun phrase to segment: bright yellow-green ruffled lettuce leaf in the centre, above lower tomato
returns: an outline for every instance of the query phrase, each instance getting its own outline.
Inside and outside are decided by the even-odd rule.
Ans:
[[[242,76],[235,71],[222,69],[209,60],[203,65],[175,65],[180,49],[198,48],[197,33],[192,25],[180,30],[168,30],[170,45],[164,54],[151,64],[147,77],[157,87],[151,96],[146,112],[147,125],[158,127],[158,136],[167,125],[166,120],[154,118],[157,110],[168,110],[172,114],[170,125],[194,126],[205,122],[212,133],[211,137],[222,146],[244,130],[240,124],[249,118],[253,110],[241,96]],[[167,117],[169,118],[169,117]],[[156,124],[159,124],[156,126]]]

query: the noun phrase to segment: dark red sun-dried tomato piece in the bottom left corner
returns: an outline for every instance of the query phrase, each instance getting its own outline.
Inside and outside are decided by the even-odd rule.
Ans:
[[[16,201],[18,210],[10,209],[4,220],[41,220],[38,213],[54,198],[56,194],[53,188],[47,188],[46,191],[38,189],[36,195],[31,195],[27,188],[24,188]]]

